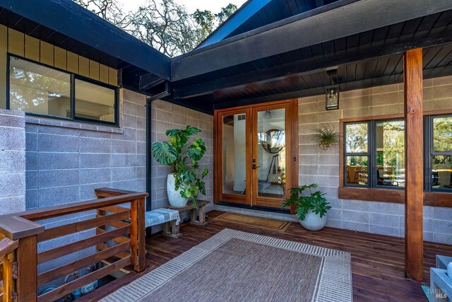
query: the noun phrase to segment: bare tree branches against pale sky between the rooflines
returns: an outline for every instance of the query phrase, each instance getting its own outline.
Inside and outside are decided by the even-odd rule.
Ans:
[[[229,4],[220,13],[189,14],[177,0],[148,0],[137,11],[124,13],[119,0],[73,1],[169,57],[193,50],[237,9]]]

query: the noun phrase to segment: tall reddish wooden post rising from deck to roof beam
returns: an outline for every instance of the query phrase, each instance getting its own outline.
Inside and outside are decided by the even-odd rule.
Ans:
[[[422,281],[423,242],[423,120],[422,48],[403,56],[405,83],[405,274]]]

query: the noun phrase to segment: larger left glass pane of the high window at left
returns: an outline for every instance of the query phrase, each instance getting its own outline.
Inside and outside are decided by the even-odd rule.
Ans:
[[[13,110],[71,117],[71,76],[11,57],[9,102]]]

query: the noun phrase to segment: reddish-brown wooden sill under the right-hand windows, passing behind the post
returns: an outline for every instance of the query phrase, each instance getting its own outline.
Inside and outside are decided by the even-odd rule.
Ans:
[[[376,189],[373,187],[339,187],[340,199],[364,200],[367,202],[405,203],[405,190]],[[424,192],[424,206],[452,207],[452,193]]]

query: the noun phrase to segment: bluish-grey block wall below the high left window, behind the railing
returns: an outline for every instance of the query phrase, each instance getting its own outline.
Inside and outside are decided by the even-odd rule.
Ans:
[[[146,190],[145,95],[121,91],[121,127],[26,117],[27,209]]]

